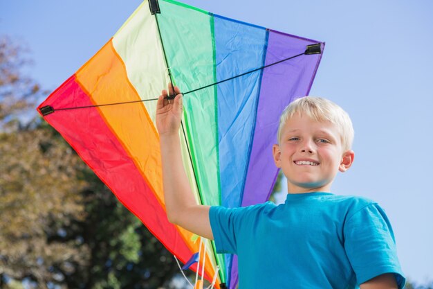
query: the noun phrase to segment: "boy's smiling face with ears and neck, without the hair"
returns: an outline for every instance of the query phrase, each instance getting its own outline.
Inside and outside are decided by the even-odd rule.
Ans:
[[[288,193],[329,192],[338,170],[352,164],[353,151],[342,151],[340,132],[329,121],[295,114],[274,145],[275,165],[287,178]]]

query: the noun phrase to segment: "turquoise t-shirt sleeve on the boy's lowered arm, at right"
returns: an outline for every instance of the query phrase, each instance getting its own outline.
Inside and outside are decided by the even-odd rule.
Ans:
[[[394,232],[378,204],[369,204],[344,224],[344,248],[358,284],[385,273],[394,273],[398,288],[405,277],[398,262]]]

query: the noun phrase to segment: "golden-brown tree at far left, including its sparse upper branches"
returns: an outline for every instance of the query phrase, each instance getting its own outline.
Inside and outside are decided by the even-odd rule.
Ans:
[[[8,37],[0,37],[0,274],[42,282],[55,279],[51,264],[80,260],[85,254],[46,238],[53,218],[81,218],[75,190],[84,183],[75,172],[83,164],[71,148],[52,137],[53,131],[22,125],[19,116],[41,93],[39,85],[21,73],[29,63],[22,53]]]

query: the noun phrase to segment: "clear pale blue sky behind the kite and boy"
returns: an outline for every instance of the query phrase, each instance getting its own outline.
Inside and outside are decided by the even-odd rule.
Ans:
[[[0,0],[0,33],[26,44],[35,62],[28,73],[53,90],[140,2]],[[356,131],[355,162],[333,192],[378,201],[407,277],[433,280],[433,1],[184,2],[326,42],[311,95],[342,106]]]

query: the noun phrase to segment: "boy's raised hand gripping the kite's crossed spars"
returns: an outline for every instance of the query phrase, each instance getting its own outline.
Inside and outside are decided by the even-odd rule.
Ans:
[[[182,119],[182,94],[178,87],[169,85],[169,94],[176,97],[173,100],[166,99],[167,90],[163,90],[156,104],[156,128],[161,137],[178,134]]]

